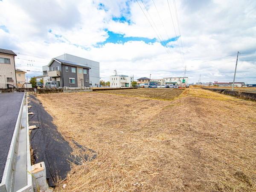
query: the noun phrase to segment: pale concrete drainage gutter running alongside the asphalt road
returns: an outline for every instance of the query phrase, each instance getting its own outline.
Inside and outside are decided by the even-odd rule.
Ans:
[[[0,192],[32,192],[27,94],[24,93],[12,136]]]

